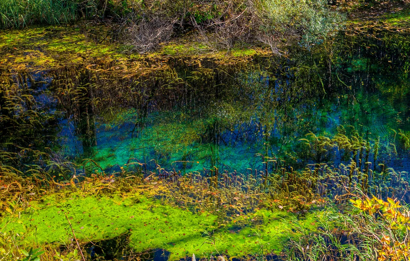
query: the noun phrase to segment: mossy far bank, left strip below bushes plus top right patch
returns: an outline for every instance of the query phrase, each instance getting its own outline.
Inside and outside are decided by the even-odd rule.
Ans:
[[[378,30],[408,31],[409,9],[394,7],[380,16],[364,12],[350,16],[345,23],[349,32],[363,33],[364,27]],[[271,48],[264,45],[238,44],[230,50],[212,50],[198,41],[195,34],[187,34],[161,43],[155,52],[129,52],[129,46],[110,36],[104,24],[76,23],[74,25],[29,26],[23,29],[0,31],[0,69],[9,72],[22,70],[49,71],[67,65],[84,65],[96,70],[129,71],[160,68],[168,58],[191,58],[194,64],[212,58],[224,64],[250,61],[255,55],[269,56]],[[351,32],[349,32],[351,34]],[[282,53],[294,43],[282,41]],[[98,67],[98,65],[102,65]],[[148,65],[148,66],[147,66]],[[148,67],[148,68],[146,68]]]

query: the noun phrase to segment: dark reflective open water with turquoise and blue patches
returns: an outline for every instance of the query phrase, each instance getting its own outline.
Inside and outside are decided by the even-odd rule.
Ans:
[[[300,140],[310,132],[330,139],[343,133],[368,142],[363,153],[373,166],[408,171],[406,39],[341,32],[312,50],[290,47],[286,57],[170,59],[163,70],[130,77],[83,67],[36,74],[43,81],[38,107],[60,115],[43,126],[52,134],[40,145],[52,144],[55,157],[91,158],[106,173],[130,162],[182,173],[246,171],[262,167],[258,153],[294,168],[347,162],[356,155],[329,146],[316,153]]]

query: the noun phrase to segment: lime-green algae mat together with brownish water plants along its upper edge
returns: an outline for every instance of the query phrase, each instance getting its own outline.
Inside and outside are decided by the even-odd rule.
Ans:
[[[348,168],[353,169],[353,166],[352,163]],[[79,241],[93,242],[128,234],[133,251],[163,248],[171,252],[171,260],[191,253],[205,257],[215,254],[244,256],[257,252],[261,245],[269,245],[264,250],[266,254],[279,254],[284,250],[282,241],[287,237],[296,240],[302,236],[306,240],[303,235],[309,230],[317,233],[314,232],[316,223],[328,221],[328,215],[336,215],[332,219],[337,223],[337,215],[341,215],[337,211],[306,214],[313,206],[326,204],[322,195],[334,195],[334,202],[340,204],[355,193],[356,186],[345,187],[343,191],[338,185],[327,186],[334,183],[335,178],[348,180],[348,168],[344,170],[345,177],[336,176],[335,170],[324,171],[325,168],[322,165],[314,171],[301,173],[285,172],[282,168],[283,175],[269,173],[267,180],[262,171],[242,175],[219,173],[214,168],[203,175],[181,176],[166,172],[160,166],[157,173],[138,178],[122,168],[122,173],[115,176],[85,178],[78,183],[73,179],[66,184],[54,182],[47,190],[34,189],[31,182],[23,187],[21,180],[16,180],[14,184],[20,184],[19,187],[4,189],[7,190],[5,195],[13,195],[14,201],[5,207],[7,214],[2,226],[7,234],[16,233],[21,242],[63,243],[71,237],[65,220],[71,220]],[[356,169],[353,182],[358,180],[357,174],[365,175]],[[389,175],[397,178],[394,173]],[[403,189],[376,195],[391,193],[397,197]],[[52,193],[54,190],[57,191]],[[362,201],[354,202],[361,204]],[[290,213],[305,215],[296,220]],[[334,223],[327,223],[326,227],[333,227]],[[294,234],[292,227],[302,229],[303,234]],[[141,245],[142,242],[145,243]],[[235,244],[230,245],[232,242]],[[357,252],[362,253],[361,250]]]

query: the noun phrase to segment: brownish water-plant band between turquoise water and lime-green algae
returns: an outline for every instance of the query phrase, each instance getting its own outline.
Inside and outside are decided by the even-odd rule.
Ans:
[[[175,213],[177,209],[181,209],[182,211],[178,216],[180,217],[182,213],[187,213],[184,211],[193,212],[193,213],[210,213],[214,216],[210,218],[210,220],[217,220],[217,223],[220,225],[225,224],[225,222],[231,223],[232,225],[246,225],[249,222],[249,219],[253,217],[254,220],[258,219],[258,215],[263,214],[264,212],[260,209],[286,209],[288,211],[296,211],[296,212],[306,212],[308,209],[310,209],[314,205],[321,205],[325,201],[323,201],[323,196],[328,196],[328,195],[333,195],[332,198],[335,200],[335,202],[346,202],[348,199],[348,195],[350,193],[347,190],[351,189],[351,191],[354,191],[355,186],[351,185],[352,187],[349,187],[349,173],[351,173],[352,177],[352,183],[357,184],[358,186],[363,187],[364,185],[360,182],[358,182],[358,177],[359,176],[364,176],[364,173],[360,174],[360,171],[355,167],[355,163],[352,162],[350,166],[347,168],[343,166],[339,166],[338,169],[331,169],[329,166],[326,166],[326,164],[317,164],[314,166],[308,166],[308,168],[305,171],[297,172],[293,171],[291,169],[290,172],[286,172],[285,168],[280,167],[280,163],[276,162],[276,160],[269,160],[268,158],[265,158],[266,162],[269,162],[269,164],[273,164],[273,166],[276,165],[276,169],[279,170],[280,175],[278,174],[273,174],[269,173],[268,179],[266,180],[266,172],[265,171],[257,171],[255,170],[255,173],[253,174],[253,171],[251,173],[247,173],[246,175],[243,175],[241,173],[233,172],[229,173],[227,170],[224,170],[223,172],[219,172],[219,169],[216,167],[210,170],[204,170],[204,172],[201,173],[189,173],[187,175],[181,175],[180,173],[177,173],[175,171],[173,172],[168,172],[164,169],[162,169],[160,166],[158,166],[157,172],[147,174],[146,178],[133,178],[132,173],[126,174],[130,175],[125,176],[125,178],[120,178],[120,177],[114,177],[114,176],[109,176],[109,177],[100,177],[100,178],[94,178],[94,179],[85,179],[82,182],[78,182],[73,184],[72,188],[77,190],[77,193],[85,193],[86,195],[100,195],[101,197],[104,198],[104,202],[107,203],[107,200],[114,200],[114,203],[108,204],[111,207],[108,207],[108,209],[105,209],[104,211],[107,213],[113,213],[113,207],[116,207],[118,204],[118,200],[120,200],[120,206],[119,208],[124,208],[123,210],[117,209],[114,212],[117,213],[118,211],[130,211],[132,209],[132,206],[135,205],[137,207],[137,211],[141,211],[144,209],[142,207],[143,203],[141,202],[146,202],[144,203],[146,205],[146,208],[150,211],[153,211],[152,206],[153,205],[164,205],[164,202],[166,202],[165,206],[174,206],[176,207],[172,211],[166,211],[164,213],[167,213],[167,222],[171,222],[170,216],[171,213]],[[267,164],[265,164],[267,165]],[[311,171],[311,168],[314,167],[314,172]],[[128,168],[128,166],[127,166]],[[124,170],[125,171],[125,170]],[[352,173],[353,171],[353,173]],[[339,172],[339,173],[338,173]],[[391,174],[393,177],[392,180],[397,180],[394,178],[394,174]],[[383,177],[383,176],[382,176]],[[363,180],[363,178],[362,178]],[[91,182],[91,183],[90,183]],[[340,183],[344,182],[344,183]],[[381,184],[383,182],[383,179],[380,178],[380,182],[378,184],[381,187]],[[152,199],[149,198],[144,198],[141,199],[140,192],[134,191],[139,185],[141,184],[141,187],[143,191],[145,191],[146,195],[151,195],[154,198],[160,198],[160,202],[153,202]],[[332,185],[333,184],[333,185]],[[369,188],[369,186],[364,186],[365,189],[368,189],[368,193],[375,193],[375,195],[380,195],[380,196],[387,196],[387,195],[399,195],[400,193],[406,193],[407,189],[405,186],[405,183],[399,183],[399,184],[394,184],[392,185],[387,185],[389,186],[390,189],[387,189],[385,191],[383,188],[382,189],[377,189],[377,190],[372,190]],[[399,187],[403,186],[401,189]],[[60,186],[63,187],[63,186]],[[393,189],[393,187],[396,187],[397,189]],[[81,192],[83,191],[83,192]],[[118,195],[120,198],[116,199],[114,195],[116,195],[116,191],[124,191],[120,192]],[[134,191],[134,192],[131,192]],[[264,193],[264,191],[266,191]],[[373,192],[374,191],[374,192]],[[26,192],[27,193],[27,192]],[[122,194],[121,194],[122,193]],[[126,193],[128,196],[126,196],[124,193]],[[144,193],[144,194],[145,194]],[[53,198],[53,196],[47,196],[39,201],[38,204],[48,204],[52,202],[52,200],[63,200],[63,198],[71,197],[73,196],[67,196],[67,192],[61,190],[59,193],[55,193],[55,195],[60,194],[60,199]],[[23,192],[21,194],[22,196],[25,195]],[[27,195],[27,194],[26,194]],[[401,195],[401,194],[400,194]],[[39,195],[40,196],[40,195]],[[114,196],[114,197],[113,197]],[[124,198],[125,196],[125,198]],[[137,196],[137,199],[135,198]],[[404,195],[403,195],[404,196]],[[108,199],[108,198],[111,199]],[[122,199],[121,199],[122,197]],[[48,199],[47,199],[48,198]],[[77,198],[76,196],[74,198]],[[73,198],[73,200],[74,200]],[[81,197],[80,197],[81,198]],[[51,201],[50,201],[51,200]],[[64,199],[67,200],[67,199]],[[71,200],[71,199],[70,199]],[[81,216],[82,209],[77,209],[78,207],[73,207],[74,205],[78,205],[74,202],[71,202],[68,200],[68,205],[64,205],[63,209],[64,212],[66,213],[71,213],[70,215],[73,216],[74,213],[77,213]],[[88,200],[85,202],[84,200]],[[82,202],[80,205],[84,206],[87,208],[89,204],[95,205],[96,203],[93,202],[93,198],[90,197],[85,197],[84,202]],[[91,201],[90,201],[91,200]],[[101,198],[100,198],[101,200]],[[125,201],[124,201],[125,200]],[[144,201],[145,200],[145,201]],[[71,203],[70,203],[71,202]],[[132,203],[134,202],[134,203]],[[124,204],[124,206],[122,206]],[[147,205],[148,204],[148,205]],[[41,206],[39,205],[39,208]],[[49,205],[49,207],[44,208],[44,211],[48,211],[50,213],[45,213],[45,216],[52,215],[52,213],[57,211],[60,211],[62,207],[59,207],[57,209],[54,209],[53,207],[54,204]],[[107,205],[107,206],[108,206]],[[31,206],[33,207],[33,203],[31,203]],[[128,208],[131,207],[131,208]],[[151,207],[148,207],[151,206]],[[37,207],[36,207],[37,208]],[[21,211],[21,213],[24,212],[24,208],[21,210],[17,210],[18,207],[12,207],[9,208],[11,216],[15,216],[18,211]],[[30,210],[32,211],[32,210]],[[54,211],[54,212],[53,212]],[[94,218],[98,218],[97,214],[97,209],[93,210],[93,213],[90,213],[90,215]],[[103,211],[103,212],[104,212]],[[179,210],[178,210],[179,211]],[[104,213],[105,213],[104,212]],[[163,211],[159,211],[163,212]],[[158,212],[158,213],[159,213]],[[31,213],[31,212],[30,212]],[[179,212],[178,212],[179,213]],[[259,213],[259,214],[258,214]],[[101,213],[103,214],[103,213]],[[144,214],[146,216],[148,213]],[[64,214],[59,214],[63,215],[62,220],[64,220],[65,216]],[[103,214],[105,215],[105,214]],[[185,215],[185,214],[184,214]],[[191,214],[189,214],[191,215]],[[24,215],[23,215],[24,216]],[[118,215],[121,216],[121,215]],[[91,217],[91,219],[93,219]],[[249,218],[247,218],[249,217]],[[34,217],[36,220],[36,217]],[[38,219],[38,218],[37,218]],[[40,218],[41,219],[41,218]],[[44,219],[44,218],[43,218]],[[73,220],[78,220],[78,218],[73,218]],[[150,220],[153,220],[152,218]],[[128,219],[125,218],[123,220],[124,226],[126,227],[128,224]],[[87,223],[88,221],[84,221]],[[117,225],[118,225],[118,218],[117,218]],[[214,221],[215,222],[215,221]],[[90,223],[95,225],[95,221],[90,220]],[[152,223],[152,221],[150,221]],[[40,224],[43,224],[40,222]],[[172,225],[171,223],[167,223],[169,225]],[[268,223],[269,224],[269,223]],[[48,223],[45,223],[45,225],[49,225]],[[144,225],[144,224],[141,224]],[[187,227],[187,223],[184,223],[184,226]],[[331,223],[329,223],[331,225]],[[39,226],[39,225],[37,225]],[[54,226],[54,225],[52,225]],[[104,229],[104,226],[98,225],[97,229]],[[118,227],[118,226],[117,226]],[[224,225],[222,227],[225,227]],[[93,227],[88,227],[89,229],[93,229]],[[76,228],[76,232],[78,232]],[[121,234],[125,231],[120,231],[116,229],[115,227],[111,226],[109,228],[108,233],[115,233],[115,234]],[[111,229],[111,230],[110,230]],[[114,230],[113,230],[114,229]],[[135,231],[140,231],[141,233],[146,233],[144,232],[145,228],[142,229],[139,228]],[[189,228],[187,228],[187,231],[190,231]],[[227,227],[229,229],[229,227]],[[41,238],[41,231],[43,229],[37,229],[36,236],[38,238]],[[118,231],[117,231],[118,230]],[[162,232],[166,233],[166,227],[162,228]],[[134,231],[134,229],[133,229]],[[180,229],[179,229],[180,231]],[[264,223],[264,231],[266,232],[266,223]],[[245,234],[249,234],[247,230],[242,230]],[[87,232],[88,236],[91,236],[91,232]],[[60,235],[61,233],[58,233]],[[78,234],[78,233],[76,233]],[[141,234],[141,236],[143,236]],[[149,233],[148,233],[149,234]],[[148,235],[146,233],[146,236]],[[109,236],[110,234],[107,234]],[[82,234],[79,234],[82,238]],[[98,230],[94,236],[103,236],[101,234],[101,230]],[[136,240],[141,240],[141,236],[138,237],[131,237],[131,240],[133,241],[134,238]],[[47,238],[50,239],[50,234],[47,233]],[[202,241],[203,239],[198,238],[198,240]],[[266,242],[265,242],[266,241]],[[156,241],[155,241],[156,242]],[[196,241],[195,241],[196,242]],[[262,242],[262,241],[260,241]],[[264,243],[262,244],[267,244],[271,242],[271,239],[264,239]],[[277,241],[275,241],[277,242]],[[271,242],[272,243],[272,242]],[[200,243],[196,243],[199,244]],[[138,242],[137,242],[138,245]],[[136,245],[136,246],[137,246]],[[271,247],[274,244],[271,244]],[[253,244],[255,246],[255,244]],[[154,247],[154,245],[153,245]],[[175,247],[177,247],[175,245]],[[183,246],[181,246],[183,247]],[[216,247],[218,250],[219,249],[224,249],[227,246],[221,246],[219,244],[216,245],[210,245],[212,249]],[[241,246],[243,247],[243,245]],[[140,248],[138,248],[140,249]],[[172,250],[173,247],[169,246],[169,250]],[[184,247],[186,250],[187,248]],[[228,249],[228,248],[227,248]],[[235,247],[232,248],[230,247],[229,252],[230,254],[232,253],[237,253],[235,252],[236,249]],[[253,251],[253,247],[251,248]],[[141,250],[144,250],[141,248]],[[184,251],[185,251],[184,250]],[[189,252],[195,252],[194,250],[190,250],[188,252],[183,252],[183,255],[189,254]],[[256,251],[256,250],[255,250]],[[173,252],[173,251],[171,251]],[[175,252],[181,254],[182,250],[177,250],[175,248]],[[211,250],[213,252],[213,250]],[[198,252],[195,252],[198,253]],[[238,252],[239,253],[239,252]]]

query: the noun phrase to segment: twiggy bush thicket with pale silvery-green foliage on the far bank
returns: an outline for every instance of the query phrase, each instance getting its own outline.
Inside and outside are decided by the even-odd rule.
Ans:
[[[273,52],[277,52],[278,43],[290,38],[310,47],[326,38],[342,22],[342,16],[331,11],[326,0],[131,0],[126,10],[124,36],[126,40],[130,36],[136,39],[126,42],[134,42],[133,49],[137,50],[146,49],[147,37],[141,32],[157,36],[148,37],[153,45],[161,41],[162,30],[155,26],[139,29],[146,28],[147,23],[155,25],[159,19],[166,20],[164,28],[172,28],[174,33],[195,29],[198,40],[207,49],[230,50],[237,43],[263,42],[270,45]],[[166,35],[170,35],[168,29]]]

